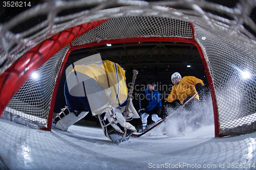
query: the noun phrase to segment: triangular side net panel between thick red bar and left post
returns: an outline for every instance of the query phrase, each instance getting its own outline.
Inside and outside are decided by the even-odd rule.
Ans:
[[[61,63],[70,49],[67,45],[43,64],[13,96],[5,109],[14,115],[47,126],[52,93]]]

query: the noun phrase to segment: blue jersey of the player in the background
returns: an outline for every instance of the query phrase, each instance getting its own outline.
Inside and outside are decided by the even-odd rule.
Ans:
[[[159,93],[159,91],[154,90],[152,92],[148,92],[146,88],[140,93],[144,94],[149,102],[148,106],[146,107],[148,111],[153,110],[156,106],[162,107],[161,94]]]

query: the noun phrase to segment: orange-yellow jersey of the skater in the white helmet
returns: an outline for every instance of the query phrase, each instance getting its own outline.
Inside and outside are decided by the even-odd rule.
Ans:
[[[183,77],[179,84],[173,86],[172,91],[170,92],[168,98],[165,100],[168,102],[173,102],[179,99],[180,103],[183,104],[187,97],[193,96],[197,93],[195,88],[197,83],[202,83],[204,86],[204,83],[201,79],[198,79],[194,76]],[[195,98],[199,100],[199,95],[197,94]]]

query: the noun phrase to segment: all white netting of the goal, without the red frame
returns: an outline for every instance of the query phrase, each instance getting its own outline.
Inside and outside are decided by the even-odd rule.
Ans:
[[[116,3],[118,4],[118,2]],[[253,1],[246,1],[239,6],[240,8],[233,9],[203,1],[161,2],[159,6],[156,3],[151,3],[150,5],[144,2],[131,3],[135,3],[138,9],[121,7],[108,10],[101,6],[102,9],[97,11],[98,13],[96,11],[82,11],[62,18],[56,17],[57,19],[55,20],[49,19],[41,24],[40,27],[37,26],[40,31],[31,37],[27,37],[27,39],[24,38],[27,34],[24,37],[22,37],[22,34],[19,34],[19,36],[13,34],[4,35],[6,33],[4,31],[7,30],[8,32],[8,27],[10,27],[11,23],[7,25],[8,27],[1,26],[2,31],[0,33],[4,38],[0,42],[2,47],[0,59],[1,63],[6,63],[1,67],[1,73],[17,58],[42,40],[61,30],[72,28],[81,23],[111,18],[71,42],[72,46],[132,37],[191,39],[193,38],[192,29],[188,23],[191,22],[195,28],[195,40],[202,49],[213,82],[220,131],[225,128],[250,124],[256,120],[254,115],[256,112],[256,70],[253,65],[256,63],[256,54],[255,50],[253,50],[256,47],[256,43],[255,37],[242,27],[242,22],[240,23],[243,20],[250,28],[254,28],[255,23],[251,21],[248,13],[249,9],[255,8]],[[120,4],[126,5],[124,1],[119,1]],[[189,10],[179,9],[179,5],[184,7],[191,6],[191,8]],[[141,8],[139,8],[140,6]],[[146,10],[145,6],[147,7]],[[163,6],[176,8],[172,10],[163,8]],[[202,8],[209,8],[217,12],[221,11],[226,15],[232,16],[232,18],[238,19],[223,18],[204,12]],[[246,15],[241,15],[241,13]],[[84,14],[87,14],[86,18],[82,17]],[[123,17],[124,15],[129,16]],[[58,23],[56,20],[59,22],[61,20],[62,23]],[[45,26],[42,26],[44,24]],[[49,27],[49,25],[54,27]],[[32,31],[30,30],[30,32]],[[20,40],[20,43],[17,43],[18,40]],[[14,50],[8,53],[6,50],[8,45],[13,46],[15,43],[17,45],[14,45]],[[15,94],[6,110],[10,112],[15,110],[13,114],[21,115],[32,121],[39,118],[42,124],[46,124],[56,76],[61,62],[69,49],[70,46],[68,45],[42,65],[37,70],[38,74],[41,75],[39,80],[35,81],[30,78]],[[250,72],[252,77],[245,80],[241,76],[242,71]]]

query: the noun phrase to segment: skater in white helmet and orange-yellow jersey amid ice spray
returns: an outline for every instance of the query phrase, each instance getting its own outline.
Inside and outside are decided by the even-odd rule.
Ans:
[[[174,84],[172,91],[163,92],[163,98],[167,102],[174,102],[176,100],[179,100],[180,103],[183,105],[186,101],[190,100],[190,98],[192,98],[192,96],[194,96],[198,92],[195,98],[189,101],[183,107],[186,111],[189,111],[190,113],[186,115],[181,115],[180,113],[178,113],[178,116],[180,116],[179,118],[182,119],[179,125],[179,132],[184,133],[186,124],[188,122],[190,122],[194,130],[200,128],[202,118],[201,116],[197,117],[197,115],[193,113],[193,109],[195,109],[195,106],[198,106],[199,100],[200,102],[205,100],[203,81],[194,76],[185,76],[181,78],[179,72],[175,72],[172,75],[171,80]],[[184,117],[182,118],[182,116]]]

